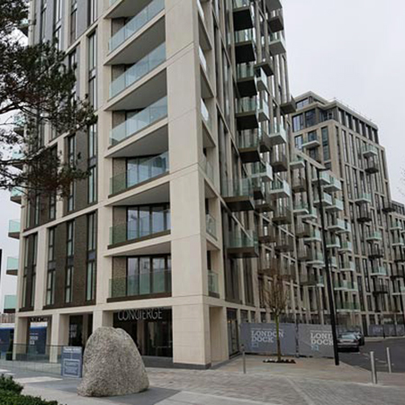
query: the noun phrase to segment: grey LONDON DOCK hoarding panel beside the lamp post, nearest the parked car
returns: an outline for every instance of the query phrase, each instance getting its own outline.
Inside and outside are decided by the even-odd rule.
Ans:
[[[329,325],[298,326],[300,356],[333,357],[332,329]]]

